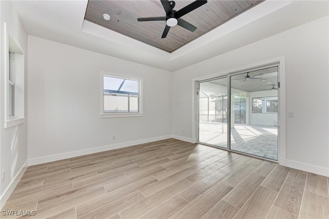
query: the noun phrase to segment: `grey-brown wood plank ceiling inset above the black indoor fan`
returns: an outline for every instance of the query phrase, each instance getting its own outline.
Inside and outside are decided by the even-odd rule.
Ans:
[[[194,1],[176,0],[174,9],[178,11],[192,2]],[[263,1],[210,0],[207,4],[181,17],[197,27],[194,32],[176,25],[170,28],[167,38],[163,39],[161,39],[161,35],[166,26],[165,21],[137,22],[138,17],[166,16],[160,0],[89,0],[85,20],[156,48],[173,52],[261,2]],[[104,13],[109,14],[111,20],[105,21]]]

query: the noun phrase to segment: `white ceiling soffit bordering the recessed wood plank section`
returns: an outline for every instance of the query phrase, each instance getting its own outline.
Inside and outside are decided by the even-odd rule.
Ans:
[[[328,1],[267,0],[168,53],[84,21],[87,3],[14,1],[29,35],[170,71],[319,19],[328,15],[329,5]]]

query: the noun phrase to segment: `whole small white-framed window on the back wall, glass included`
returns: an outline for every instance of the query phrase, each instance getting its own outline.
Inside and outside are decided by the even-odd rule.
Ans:
[[[101,117],[142,116],[141,79],[102,76]]]

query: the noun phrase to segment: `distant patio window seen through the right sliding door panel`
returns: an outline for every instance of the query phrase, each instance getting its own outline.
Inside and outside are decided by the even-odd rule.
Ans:
[[[278,97],[252,98],[252,113],[278,113]]]

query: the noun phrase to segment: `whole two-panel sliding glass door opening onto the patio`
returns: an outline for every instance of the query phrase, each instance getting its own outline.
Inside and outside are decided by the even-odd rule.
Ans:
[[[278,160],[278,85],[278,66],[200,81],[198,142]]]

